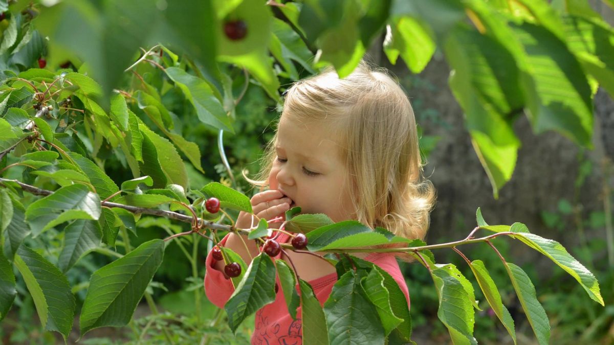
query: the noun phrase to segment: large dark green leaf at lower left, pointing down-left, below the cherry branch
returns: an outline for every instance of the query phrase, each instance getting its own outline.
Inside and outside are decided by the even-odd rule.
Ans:
[[[79,320],[81,336],[93,328],[128,324],[164,255],[164,241],[144,242],[95,271]]]

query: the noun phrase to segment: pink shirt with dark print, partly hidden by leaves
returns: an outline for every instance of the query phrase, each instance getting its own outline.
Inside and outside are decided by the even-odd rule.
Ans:
[[[220,241],[223,246],[226,243],[228,236]],[[288,235],[281,233],[278,236],[278,241],[283,243],[289,239]],[[278,255],[279,258],[281,254]],[[365,260],[375,263],[384,271],[389,273],[397,282],[398,287],[405,294],[405,298],[409,303],[409,292],[403,274],[398,267],[397,259],[394,255],[386,253],[370,253]],[[228,301],[232,293],[235,291],[230,279],[226,279],[222,272],[212,268],[214,258],[209,252],[207,255],[206,266],[207,271],[204,276],[204,290],[213,304],[216,304],[219,308],[223,308],[224,304]],[[267,345],[301,345],[302,331],[301,331],[301,308],[297,309],[297,319],[293,320],[288,312],[286,300],[284,299],[284,293],[281,290],[281,284],[279,283],[279,277],[277,278],[277,284],[280,289],[275,297],[275,301],[270,304],[266,304],[260,310],[256,312],[254,334],[252,335],[252,344],[267,344]],[[313,291],[317,300],[323,306],[324,302],[328,299],[333,285],[337,281],[337,274],[331,273],[327,276],[319,277],[309,281],[309,285],[313,287]],[[297,284],[298,290],[298,284]]]

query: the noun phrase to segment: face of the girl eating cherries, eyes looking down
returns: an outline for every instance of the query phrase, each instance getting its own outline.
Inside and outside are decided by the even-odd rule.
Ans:
[[[277,157],[269,174],[271,190],[280,190],[301,213],[324,213],[335,222],[354,219],[348,169],[339,157],[330,126],[298,123],[282,115]]]

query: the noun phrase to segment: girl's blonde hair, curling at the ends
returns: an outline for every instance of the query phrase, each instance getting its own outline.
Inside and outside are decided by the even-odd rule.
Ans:
[[[424,238],[435,188],[422,178],[410,101],[386,69],[361,61],[344,79],[326,68],[299,80],[287,90],[282,116],[336,125],[359,222],[409,239]],[[252,184],[268,185],[276,140],[277,134],[266,146],[257,180],[244,175]]]

